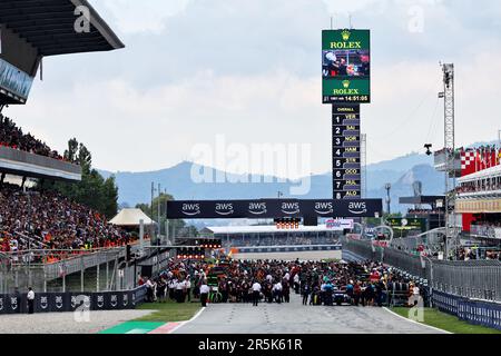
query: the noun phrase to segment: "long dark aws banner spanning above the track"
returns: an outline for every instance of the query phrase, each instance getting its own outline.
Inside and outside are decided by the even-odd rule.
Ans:
[[[179,200],[167,204],[169,219],[274,219],[380,217],[381,199],[357,200]]]

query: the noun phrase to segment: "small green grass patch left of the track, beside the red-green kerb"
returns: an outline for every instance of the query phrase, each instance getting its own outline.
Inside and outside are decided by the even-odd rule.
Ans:
[[[145,303],[139,310],[155,310],[153,314],[135,319],[135,322],[186,322],[200,309],[199,303]]]

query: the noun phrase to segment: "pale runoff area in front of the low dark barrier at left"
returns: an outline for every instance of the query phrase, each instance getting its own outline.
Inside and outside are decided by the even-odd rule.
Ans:
[[[140,318],[149,310],[90,312],[88,322],[77,322],[73,313],[48,313],[33,315],[0,316],[0,334],[96,334],[117,324]],[[131,328],[139,334],[145,326]],[[137,332],[137,333],[135,333]]]

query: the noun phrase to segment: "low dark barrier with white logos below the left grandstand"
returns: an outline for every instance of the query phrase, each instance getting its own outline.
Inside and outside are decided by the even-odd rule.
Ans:
[[[35,313],[134,309],[146,298],[146,287],[102,293],[36,293]],[[0,295],[0,315],[28,313],[26,294]]]

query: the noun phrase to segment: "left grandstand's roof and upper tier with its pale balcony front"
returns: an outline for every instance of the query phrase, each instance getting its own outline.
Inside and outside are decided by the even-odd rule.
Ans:
[[[88,26],[77,31],[80,13]],[[8,105],[24,105],[43,58],[124,48],[86,0],[2,1],[0,3],[0,113]],[[0,174],[78,181],[81,169],[26,135],[1,116]],[[4,176],[2,176],[4,178]]]

